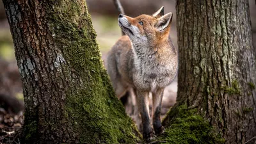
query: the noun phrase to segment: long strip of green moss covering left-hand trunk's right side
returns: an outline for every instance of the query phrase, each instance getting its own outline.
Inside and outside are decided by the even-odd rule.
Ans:
[[[115,97],[102,65],[96,33],[84,1],[52,5],[54,12],[49,26],[68,63],[67,72],[63,72],[70,76],[68,72],[72,70],[69,77],[72,83],[65,92],[65,117],[74,136],[80,143],[138,143],[141,136]]]

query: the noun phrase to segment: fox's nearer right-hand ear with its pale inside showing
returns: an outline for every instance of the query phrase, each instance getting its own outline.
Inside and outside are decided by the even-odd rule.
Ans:
[[[156,28],[159,31],[164,31],[164,29],[168,28],[172,22],[172,13],[167,13],[158,19],[156,23]]]

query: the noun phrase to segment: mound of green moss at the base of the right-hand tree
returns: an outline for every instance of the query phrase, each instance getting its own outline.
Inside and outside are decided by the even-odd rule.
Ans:
[[[225,143],[221,135],[214,131],[214,127],[196,111],[197,109],[188,109],[186,105],[172,108],[166,117],[168,120],[163,120],[166,131],[156,141],[175,144]]]

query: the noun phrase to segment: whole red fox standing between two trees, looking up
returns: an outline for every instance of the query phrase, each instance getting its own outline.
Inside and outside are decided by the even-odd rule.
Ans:
[[[177,74],[178,56],[169,38],[172,13],[164,15],[162,6],[153,15],[132,18],[120,14],[118,25],[126,34],[112,47],[107,58],[107,71],[116,96],[127,90],[136,93],[143,138],[154,136],[148,113],[148,95],[153,99],[153,127],[156,135],[164,132],[160,120],[163,91]]]

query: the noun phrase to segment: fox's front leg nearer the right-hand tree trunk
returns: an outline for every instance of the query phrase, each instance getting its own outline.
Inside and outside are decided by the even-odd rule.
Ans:
[[[156,93],[152,93],[153,97],[153,127],[156,135],[162,134],[164,132],[164,127],[161,124],[160,114],[162,107],[164,88],[158,89]]]

